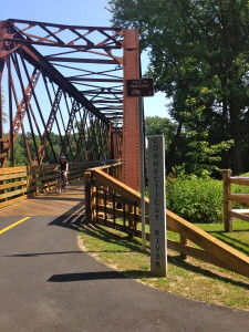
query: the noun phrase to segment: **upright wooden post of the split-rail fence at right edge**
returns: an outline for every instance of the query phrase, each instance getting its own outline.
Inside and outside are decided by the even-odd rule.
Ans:
[[[231,191],[230,184],[230,169],[225,169],[222,172],[222,180],[224,180],[224,225],[225,231],[232,231],[232,218],[231,218],[231,203],[229,200],[229,195]]]

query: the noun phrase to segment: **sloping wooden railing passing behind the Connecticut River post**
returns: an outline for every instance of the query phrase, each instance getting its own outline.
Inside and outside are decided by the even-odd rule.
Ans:
[[[116,167],[121,166],[116,165]],[[101,167],[87,169],[85,173],[86,221],[107,225],[118,228],[129,236],[142,237],[141,194],[107,173],[106,168],[102,169]],[[120,172],[113,173],[120,174]],[[148,207],[149,200],[146,198],[147,225],[149,225]],[[247,256],[169,210],[166,212],[166,218],[167,229],[179,235],[179,241],[167,239],[167,246],[169,249],[178,251],[183,259],[190,256],[249,277],[249,258]],[[148,230],[146,239],[149,240]]]

